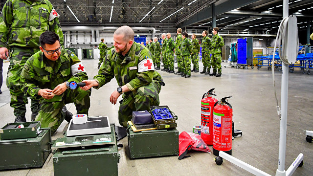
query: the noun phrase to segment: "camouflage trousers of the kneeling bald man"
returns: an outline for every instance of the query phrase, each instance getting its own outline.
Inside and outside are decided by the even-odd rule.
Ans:
[[[118,110],[119,124],[127,127],[127,122],[132,119],[133,111],[149,111],[149,107],[158,106],[160,90],[161,85],[154,80],[149,85],[138,88],[136,92],[124,93]]]

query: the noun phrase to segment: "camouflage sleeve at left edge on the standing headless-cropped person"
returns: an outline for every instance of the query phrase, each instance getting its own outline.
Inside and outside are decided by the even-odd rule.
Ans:
[[[13,20],[12,0],[7,0],[0,15],[0,47],[6,47],[7,36]]]

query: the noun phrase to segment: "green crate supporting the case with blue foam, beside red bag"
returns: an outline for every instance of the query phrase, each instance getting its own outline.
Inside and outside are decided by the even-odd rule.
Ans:
[[[176,128],[164,130],[127,131],[131,158],[179,154],[179,132]]]

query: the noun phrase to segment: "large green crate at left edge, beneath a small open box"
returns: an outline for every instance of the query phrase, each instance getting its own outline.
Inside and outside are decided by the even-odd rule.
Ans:
[[[50,129],[37,137],[0,140],[0,170],[42,167],[51,152]]]

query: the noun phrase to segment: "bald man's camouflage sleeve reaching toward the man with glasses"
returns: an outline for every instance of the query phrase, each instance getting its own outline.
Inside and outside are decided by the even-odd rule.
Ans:
[[[93,79],[96,80],[96,82],[98,82],[98,87],[93,87],[95,89],[101,88],[114,78],[114,69],[111,65],[113,50],[114,49],[111,49],[105,56],[104,64],[101,65],[98,75],[93,77]]]

